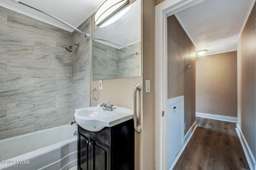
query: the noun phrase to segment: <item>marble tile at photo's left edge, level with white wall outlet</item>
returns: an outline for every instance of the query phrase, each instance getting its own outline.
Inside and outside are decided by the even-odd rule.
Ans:
[[[0,76],[0,97],[34,95],[34,79]]]

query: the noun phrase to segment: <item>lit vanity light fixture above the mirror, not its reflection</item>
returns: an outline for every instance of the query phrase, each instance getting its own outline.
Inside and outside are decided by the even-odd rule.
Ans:
[[[129,0],[106,0],[95,13],[94,24],[99,26],[128,3]]]

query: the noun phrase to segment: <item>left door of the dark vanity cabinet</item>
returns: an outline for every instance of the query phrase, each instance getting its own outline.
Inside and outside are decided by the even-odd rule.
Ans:
[[[90,167],[90,146],[88,144],[90,134],[78,128],[78,169],[91,170]]]

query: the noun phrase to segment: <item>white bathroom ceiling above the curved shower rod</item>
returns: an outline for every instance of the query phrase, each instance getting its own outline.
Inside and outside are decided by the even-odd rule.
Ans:
[[[48,12],[68,24],[78,27],[89,18],[105,0],[20,0],[30,6]],[[49,16],[18,4],[12,0],[0,0],[0,6],[25,14],[40,21],[57,26],[69,32],[73,29]]]

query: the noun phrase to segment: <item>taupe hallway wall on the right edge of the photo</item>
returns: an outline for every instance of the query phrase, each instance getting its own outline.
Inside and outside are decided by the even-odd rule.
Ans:
[[[256,4],[238,40],[238,125],[256,158]]]

